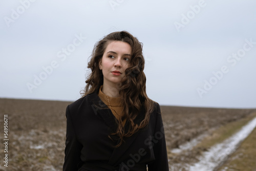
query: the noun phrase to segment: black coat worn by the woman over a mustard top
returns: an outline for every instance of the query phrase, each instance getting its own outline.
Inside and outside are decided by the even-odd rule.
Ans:
[[[143,130],[124,138],[121,146],[115,133],[116,118],[96,93],[68,105],[65,162],[63,170],[166,171],[168,159],[158,103]],[[140,123],[141,112],[135,119]],[[124,127],[127,129],[129,122]],[[111,137],[111,138],[109,138]]]

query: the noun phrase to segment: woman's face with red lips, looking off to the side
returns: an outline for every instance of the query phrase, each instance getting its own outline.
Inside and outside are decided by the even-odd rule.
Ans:
[[[106,47],[99,61],[99,68],[103,74],[103,84],[115,86],[121,82],[125,70],[129,67],[132,48],[123,41],[111,41]]]

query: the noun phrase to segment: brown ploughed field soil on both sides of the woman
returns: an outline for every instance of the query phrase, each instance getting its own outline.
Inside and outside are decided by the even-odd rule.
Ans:
[[[66,101],[0,99],[0,123],[8,115],[8,169],[1,161],[0,170],[61,170],[64,160]],[[190,163],[204,149],[186,151],[179,155],[170,149],[220,125],[239,120],[250,109],[211,109],[161,106],[168,155],[174,163]],[[4,139],[3,126],[1,139]],[[0,145],[3,157],[4,144]]]

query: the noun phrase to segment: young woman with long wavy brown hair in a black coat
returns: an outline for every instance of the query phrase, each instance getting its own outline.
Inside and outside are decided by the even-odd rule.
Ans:
[[[97,42],[83,97],[68,105],[63,170],[166,171],[159,104],[146,95],[142,44],[126,31]]]

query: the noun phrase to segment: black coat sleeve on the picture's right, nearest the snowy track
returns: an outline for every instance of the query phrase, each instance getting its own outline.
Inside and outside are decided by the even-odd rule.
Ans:
[[[147,165],[148,171],[168,171],[169,166],[166,151],[164,127],[159,104],[157,104],[156,127],[153,138],[153,142],[155,142],[153,146],[155,161]]]

